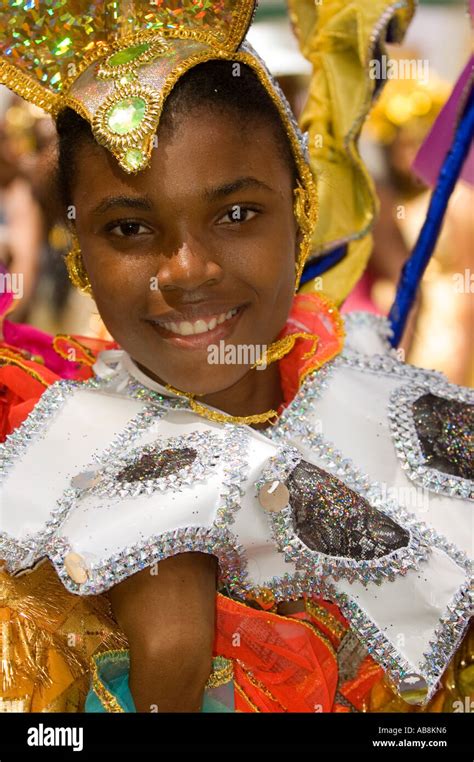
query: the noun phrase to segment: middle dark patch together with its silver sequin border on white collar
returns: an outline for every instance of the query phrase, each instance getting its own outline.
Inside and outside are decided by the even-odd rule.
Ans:
[[[349,473],[345,474],[344,484],[303,461],[299,451],[289,446],[269,459],[255,484],[257,490],[272,479],[286,480],[290,494],[293,492],[287,508],[268,515],[278,549],[287,561],[306,572],[303,589],[311,576],[359,580],[364,586],[381,584],[405,574],[409,568],[419,568],[430,554],[416,522],[405,526],[398,506],[387,503],[375,484],[366,490],[363,500],[357,494],[359,485]],[[341,523],[352,537],[337,534]],[[341,550],[347,550],[348,555]],[[272,590],[276,585],[278,595],[280,584],[281,579],[265,581],[265,587]]]

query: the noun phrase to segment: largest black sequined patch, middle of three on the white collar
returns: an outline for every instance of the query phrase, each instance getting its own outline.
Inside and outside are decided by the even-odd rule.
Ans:
[[[409,544],[408,531],[312,463],[301,461],[286,485],[296,533],[311,550],[359,561]]]

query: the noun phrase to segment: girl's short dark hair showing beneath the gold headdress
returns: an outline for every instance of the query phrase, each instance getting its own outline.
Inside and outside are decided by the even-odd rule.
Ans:
[[[239,64],[238,76],[235,76],[235,67],[233,61],[208,61],[183,74],[165,101],[160,130],[172,130],[180,118],[198,107],[231,114],[242,129],[255,122],[267,124],[275,137],[276,149],[291,172],[294,187],[298,170],[278,109],[249,66]],[[89,122],[71,108],[60,112],[56,129],[56,188],[61,206],[66,208],[72,205],[79,148],[86,142],[96,141]]]

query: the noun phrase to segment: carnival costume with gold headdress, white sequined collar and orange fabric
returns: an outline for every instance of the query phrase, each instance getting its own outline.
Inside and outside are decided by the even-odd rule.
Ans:
[[[314,66],[305,134],[244,40],[252,2],[77,7],[70,23],[63,2],[47,17],[15,7],[0,82],[53,116],[76,110],[136,173],[149,164],[163,103],[186,71],[217,59],[247,64],[278,108],[298,169],[296,287],[305,265],[344,245],[322,279],[341,303],[364,269],[376,211],[356,149],[375,90],[368,61],[383,52],[387,30],[401,37],[412,4],[290,3]],[[90,291],[77,242],[68,266]],[[22,330],[5,321],[0,368],[7,709],[82,711],[77,679],[90,672],[86,711],[134,711],[126,640],[97,602],[139,570],[191,551],[219,560],[202,711],[377,710],[389,684],[400,698],[386,700],[401,711],[430,701],[440,709],[447,668],[456,685],[443,687],[442,701],[450,690],[463,694],[466,663],[456,650],[470,616],[471,390],[402,363],[387,321],[358,314],[344,323],[308,279],[269,347],[284,402],[257,416],[228,416],[161,386],[117,346],[98,351]],[[261,431],[248,425],[269,420]],[[49,580],[49,600],[33,581],[29,592],[35,575]],[[304,612],[276,613],[279,602],[300,598]],[[21,619],[29,605],[43,607],[39,624]],[[83,625],[74,629],[80,644],[65,641],[76,605],[94,618],[95,642]],[[62,692],[54,692],[53,662]]]

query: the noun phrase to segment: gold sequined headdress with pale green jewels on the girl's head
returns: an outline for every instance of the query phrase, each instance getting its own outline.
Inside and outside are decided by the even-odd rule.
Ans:
[[[244,41],[253,0],[31,0],[21,5],[3,0],[3,5],[8,22],[0,39],[0,83],[53,117],[66,107],[74,109],[127,173],[149,165],[164,102],[186,71],[210,60],[250,66],[278,108],[298,168],[295,213],[303,234],[298,284],[317,217],[316,189],[286,98]]]

